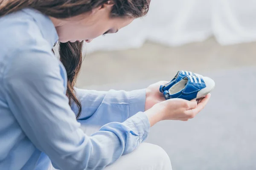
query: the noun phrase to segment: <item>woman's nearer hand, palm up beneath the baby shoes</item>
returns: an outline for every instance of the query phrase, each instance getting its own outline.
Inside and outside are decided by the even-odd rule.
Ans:
[[[196,100],[188,101],[184,99],[168,99],[154,105],[145,111],[148,116],[150,126],[153,126],[161,120],[181,120],[188,121],[194,118],[209,101],[210,94],[196,102]]]

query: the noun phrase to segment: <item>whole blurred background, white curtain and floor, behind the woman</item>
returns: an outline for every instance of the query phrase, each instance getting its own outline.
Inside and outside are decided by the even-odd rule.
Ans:
[[[84,55],[84,89],[146,88],[178,70],[214,79],[204,111],[159,122],[146,142],[163,147],[174,170],[256,170],[255,0],[151,0],[146,17],[86,44]]]

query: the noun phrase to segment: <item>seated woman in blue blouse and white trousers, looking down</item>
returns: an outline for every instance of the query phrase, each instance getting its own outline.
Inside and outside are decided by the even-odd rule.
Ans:
[[[0,0],[1,170],[47,170],[50,161],[61,170],[171,168],[159,147],[138,146],[157,122],[194,117],[209,95],[198,104],[165,101],[158,92],[165,82],[131,92],[74,88],[83,40],[143,17],[149,1]],[[102,127],[87,136],[80,123]]]

